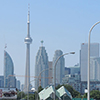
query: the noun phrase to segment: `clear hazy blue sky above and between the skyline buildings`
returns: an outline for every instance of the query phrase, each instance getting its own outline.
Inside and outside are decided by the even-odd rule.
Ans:
[[[4,46],[14,62],[14,73],[25,75],[28,3],[30,3],[31,76],[34,76],[35,57],[44,41],[49,61],[57,49],[75,55],[65,57],[66,66],[79,63],[81,43],[88,42],[93,24],[100,21],[100,0],[0,0],[0,75],[4,72]],[[91,36],[100,43],[100,25]],[[17,77],[24,83],[24,77]],[[33,80],[33,78],[31,78]]]

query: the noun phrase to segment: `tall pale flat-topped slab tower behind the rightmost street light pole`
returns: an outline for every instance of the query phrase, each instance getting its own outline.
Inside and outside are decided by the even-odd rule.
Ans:
[[[90,44],[90,57],[99,57],[99,43]],[[81,67],[81,81],[87,81],[88,43],[81,44],[80,67]]]

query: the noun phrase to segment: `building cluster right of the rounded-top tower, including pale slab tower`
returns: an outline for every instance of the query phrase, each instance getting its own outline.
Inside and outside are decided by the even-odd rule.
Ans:
[[[80,63],[73,69],[65,68],[65,77],[63,84],[71,85],[81,94],[87,89],[87,71],[88,71],[88,43],[81,44]],[[99,43],[90,44],[90,90],[100,90],[100,57]]]

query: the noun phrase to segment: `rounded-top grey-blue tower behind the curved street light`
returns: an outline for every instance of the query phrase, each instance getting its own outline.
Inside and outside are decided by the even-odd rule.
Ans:
[[[61,50],[56,50],[53,57],[53,69],[55,62],[59,56],[61,56],[63,52]],[[54,71],[53,71],[54,76]],[[62,84],[62,78],[65,76],[65,59],[61,57],[56,65],[56,84]]]

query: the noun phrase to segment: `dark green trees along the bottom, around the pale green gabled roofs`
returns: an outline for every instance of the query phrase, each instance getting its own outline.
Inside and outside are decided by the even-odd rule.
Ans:
[[[76,91],[71,85],[58,85],[56,87],[56,89],[59,89],[61,86],[64,86],[72,95],[73,98],[87,98],[87,93],[85,93],[84,95],[81,95],[78,91]],[[40,86],[38,88],[38,93],[40,91],[42,91],[43,88]],[[36,100],[37,96],[38,96],[37,92],[34,92],[34,94],[29,94],[29,100]],[[24,92],[18,92],[17,93],[17,100],[20,99],[26,99],[27,100],[27,94],[25,94]],[[96,99],[96,100],[100,100],[100,91],[99,90],[92,90],[90,91],[90,98]]]

